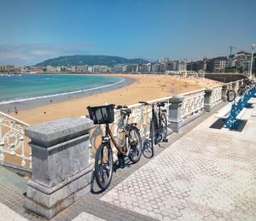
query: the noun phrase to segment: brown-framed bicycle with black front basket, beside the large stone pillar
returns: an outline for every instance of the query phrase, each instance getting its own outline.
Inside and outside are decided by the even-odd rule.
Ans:
[[[95,156],[95,177],[96,183],[102,189],[108,189],[113,176],[113,150],[111,142],[118,150],[119,157],[128,157],[131,162],[137,163],[142,156],[142,137],[137,129],[137,123],[128,124],[131,109],[123,106],[117,106],[116,109],[120,110],[122,116],[123,126],[118,130],[123,134],[123,145],[113,137],[113,133],[109,128],[109,124],[114,121],[114,104],[87,107],[90,119],[93,120],[95,125],[106,125],[105,136],[102,136],[102,143],[96,150]],[[126,119],[126,121],[125,121]]]

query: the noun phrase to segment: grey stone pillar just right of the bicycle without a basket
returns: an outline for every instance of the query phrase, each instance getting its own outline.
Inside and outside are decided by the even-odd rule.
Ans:
[[[181,107],[184,96],[172,96],[169,106],[169,121],[171,122],[171,129],[174,132],[182,127],[183,119],[181,118]]]

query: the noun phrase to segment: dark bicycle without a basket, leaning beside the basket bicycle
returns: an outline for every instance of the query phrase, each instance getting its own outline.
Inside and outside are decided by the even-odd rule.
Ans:
[[[152,109],[152,118],[150,119],[150,136],[143,146],[143,155],[146,158],[151,158],[154,156],[154,144],[159,142],[168,142],[167,137],[167,119],[166,110],[161,109],[165,107],[166,102],[139,102],[143,105],[149,105]],[[158,108],[158,114],[154,107]]]

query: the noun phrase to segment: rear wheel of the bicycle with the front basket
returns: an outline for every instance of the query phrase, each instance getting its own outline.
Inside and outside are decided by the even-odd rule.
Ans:
[[[143,153],[143,139],[137,127],[132,127],[129,131],[128,143],[131,145],[131,152],[128,157],[131,162],[137,163],[141,159]]]

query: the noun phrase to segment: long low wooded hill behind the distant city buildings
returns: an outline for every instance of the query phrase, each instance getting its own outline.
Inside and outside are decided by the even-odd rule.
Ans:
[[[148,61],[140,58],[127,59],[118,56],[108,55],[70,55],[61,56],[45,60],[41,63],[36,64],[38,67],[45,66],[84,66],[84,65],[107,65],[113,67],[117,64],[139,64],[148,63]]]

